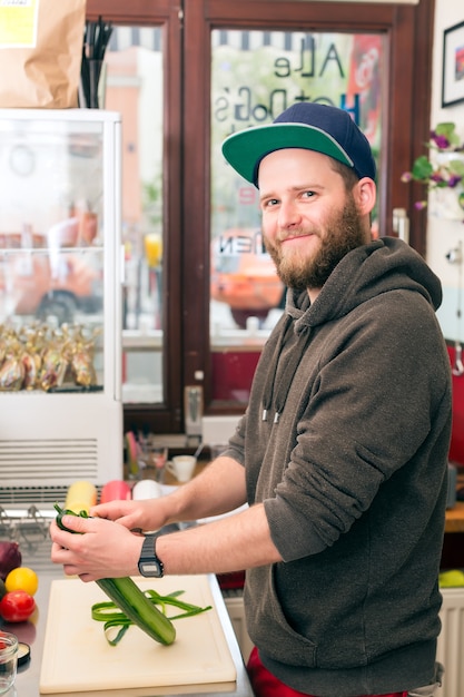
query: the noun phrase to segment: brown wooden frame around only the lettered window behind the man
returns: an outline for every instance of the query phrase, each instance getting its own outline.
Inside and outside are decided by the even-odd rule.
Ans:
[[[354,12],[356,4],[358,11]],[[329,12],[327,9],[329,8]],[[265,20],[263,18],[266,18]],[[201,384],[206,412],[241,412],[211,403],[211,355],[209,347],[209,134],[210,31],[227,29],[288,29],[383,32],[389,38],[388,94],[383,114],[382,170],[379,195],[386,202],[381,235],[393,234],[392,212],[405,208],[411,215],[411,245],[425,255],[425,218],[415,210],[414,186],[401,181],[403,171],[428,139],[432,89],[434,0],[419,4],[365,4],[348,2],[304,2],[302,0],[196,0],[185,6],[185,161],[186,194],[184,230],[191,255],[185,257],[184,278],[194,277],[198,303],[192,307],[191,289],[184,288],[189,312],[185,317],[184,369],[187,384]],[[199,62],[198,62],[199,61]],[[399,97],[401,96],[401,97]],[[198,109],[197,105],[205,105]],[[195,105],[195,108],[192,108]],[[394,138],[394,147],[391,146]],[[194,209],[191,202],[194,202]],[[196,204],[196,205],[195,205]],[[381,214],[382,215],[382,214]],[[191,230],[191,232],[190,232]],[[192,258],[196,259],[192,267]],[[194,271],[194,276],[192,276]],[[203,375],[197,380],[196,375]]]

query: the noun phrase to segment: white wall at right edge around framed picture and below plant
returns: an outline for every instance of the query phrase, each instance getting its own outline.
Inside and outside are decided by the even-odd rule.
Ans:
[[[435,0],[431,127],[440,121],[454,121],[464,143],[464,101],[442,109],[443,31],[463,21],[462,2]],[[446,254],[456,248],[460,242],[464,246],[464,223],[430,216],[426,224],[427,263],[443,283],[443,305],[437,316],[447,340],[464,341],[464,316],[461,322],[456,317],[460,267],[446,259]],[[464,284],[464,268],[461,275]],[[461,291],[461,302],[464,305],[464,288]]]

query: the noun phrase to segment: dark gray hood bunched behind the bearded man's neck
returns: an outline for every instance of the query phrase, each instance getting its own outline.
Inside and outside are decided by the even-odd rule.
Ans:
[[[289,289],[286,314],[300,333],[345,316],[358,305],[388,291],[419,293],[436,311],[442,303],[440,278],[409,245],[383,237],[347,254],[332,272],[313,305],[305,291]]]

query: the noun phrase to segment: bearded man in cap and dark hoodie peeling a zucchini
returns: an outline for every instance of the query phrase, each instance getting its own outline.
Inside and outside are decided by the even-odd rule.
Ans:
[[[82,580],[246,569],[257,697],[435,695],[451,370],[438,278],[404,242],[371,238],[375,164],[340,109],[297,104],[234,134],[287,286],[227,450],[155,501],[51,526]],[[131,531],[248,509],[142,543]],[[112,521],[120,524],[115,526]],[[78,538],[78,539],[77,539]]]

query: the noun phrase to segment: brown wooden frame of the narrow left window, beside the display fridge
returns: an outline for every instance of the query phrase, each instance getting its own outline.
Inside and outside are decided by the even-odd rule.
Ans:
[[[87,19],[101,16],[115,26],[161,27],[164,50],[164,401],[154,404],[125,404],[124,429],[149,429],[180,433],[184,429],[181,336],[181,139],[182,129],[182,8],[172,0],[88,0]],[[124,124],[122,124],[124,128]]]

